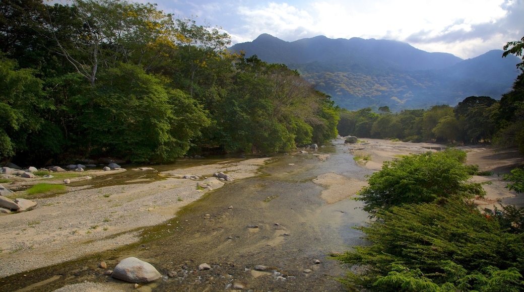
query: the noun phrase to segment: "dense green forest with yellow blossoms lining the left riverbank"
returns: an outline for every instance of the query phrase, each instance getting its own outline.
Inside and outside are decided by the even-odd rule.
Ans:
[[[330,96],[230,42],[152,4],[0,2],[0,161],[163,162],[336,137]]]

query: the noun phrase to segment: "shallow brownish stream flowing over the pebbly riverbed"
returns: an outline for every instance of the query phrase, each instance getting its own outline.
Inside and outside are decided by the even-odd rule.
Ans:
[[[335,280],[344,270],[329,255],[365,244],[353,227],[361,226],[367,213],[351,199],[326,204],[323,187],[313,179],[325,173],[365,179],[372,171],[356,165],[343,141],[335,143],[318,150],[330,154],[324,161],[311,154],[276,156],[260,170],[263,175],[213,190],[176,218],[143,229],[136,244],[31,271],[40,285],[30,290],[53,291],[82,282],[112,282],[123,291],[228,291],[237,283],[246,291],[344,290]],[[103,275],[98,267],[101,261],[111,267],[128,256],[151,263],[164,276],[136,288]],[[211,269],[199,271],[202,263]],[[256,271],[256,265],[267,269]],[[20,276],[7,277],[0,289],[27,290],[16,285]]]

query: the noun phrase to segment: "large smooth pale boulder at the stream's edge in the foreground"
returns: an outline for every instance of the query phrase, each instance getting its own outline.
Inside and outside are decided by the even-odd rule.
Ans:
[[[120,261],[111,276],[129,283],[148,283],[162,275],[151,264],[132,256]]]

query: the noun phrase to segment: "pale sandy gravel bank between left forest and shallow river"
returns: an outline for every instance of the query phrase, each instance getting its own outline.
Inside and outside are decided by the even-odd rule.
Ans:
[[[33,210],[0,216],[0,278],[136,242],[138,229],[176,217],[180,208],[209,191],[197,187],[198,182],[209,182],[214,188],[222,186],[224,182],[212,177],[215,172],[227,172],[235,179],[255,176],[269,159],[186,167],[158,173],[166,177],[162,180],[140,179],[137,183],[135,178],[130,179],[128,183],[133,184],[100,188],[72,184],[67,194],[35,199],[38,205]],[[143,174],[140,170],[127,172],[136,172],[136,177]],[[86,171],[83,175],[106,177],[115,173]],[[178,178],[185,174],[208,179]],[[36,182],[15,184],[30,183]]]

